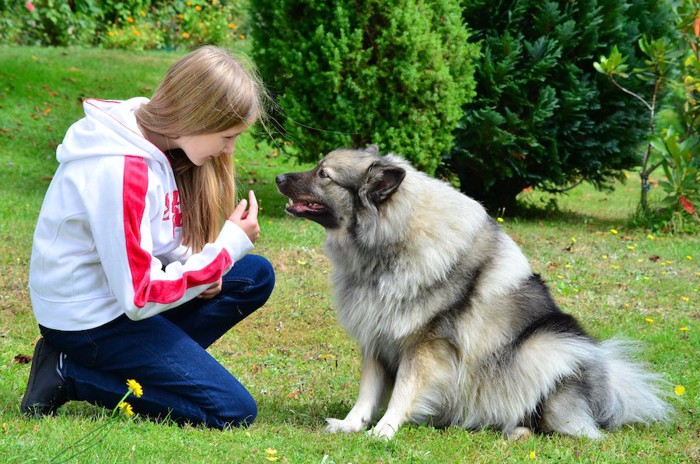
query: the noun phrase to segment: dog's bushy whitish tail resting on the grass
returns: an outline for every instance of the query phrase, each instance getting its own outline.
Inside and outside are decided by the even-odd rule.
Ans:
[[[598,423],[614,429],[627,423],[667,421],[671,414],[666,401],[670,384],[632,359],[635,344],[611,339],[601,342],[600,348],[607,363],[608,391]]]

